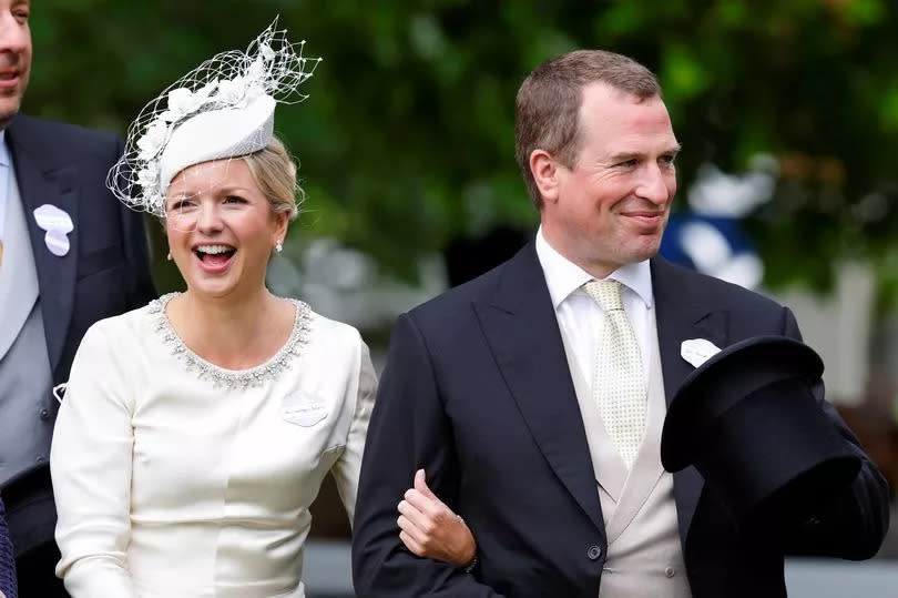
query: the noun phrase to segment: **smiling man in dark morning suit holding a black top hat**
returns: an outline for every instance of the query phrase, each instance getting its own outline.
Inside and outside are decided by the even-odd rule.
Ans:
[[[665,402],[696,355],[800,334],[786,307],[655,256],[678,144],[654,75],[564,54],[523,82],[516,124],[540,230],[396,323],[356,505],[358,595],[768,598],[785,596],[785,554],[873,556],[886,486],[822,384],[863,466],[807,517],[741,526],[694,467],[661,466]],[[402,546],[418,468],[471,528],[472,567]],[[399,508],[408,529],[418,515]]]

